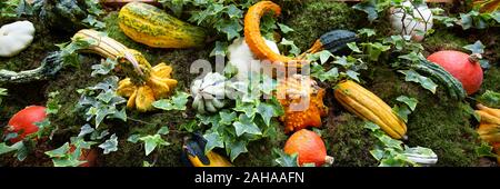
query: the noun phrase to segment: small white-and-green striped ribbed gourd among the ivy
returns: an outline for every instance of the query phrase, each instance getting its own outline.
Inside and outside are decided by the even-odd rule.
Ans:
[[[226,101],[221,98],[226,96],[227,78],[218,72],[209,72],[202,79],[194,80],[191,86],[191,93],[194,100],[192,108],[200,113],[217,112],[224,107]]]

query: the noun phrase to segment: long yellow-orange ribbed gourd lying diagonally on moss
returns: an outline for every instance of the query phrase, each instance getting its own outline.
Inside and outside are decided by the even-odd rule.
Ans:
[[[391,107],[357,82],[340,82],[334,89],[334,97],[348,111],[380,126],[390,137],[407,138],[407,125],[392,112]]]

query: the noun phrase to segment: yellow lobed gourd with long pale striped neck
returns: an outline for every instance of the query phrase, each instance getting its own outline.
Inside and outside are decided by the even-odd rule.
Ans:
[[[152,102],[168,97],[177,86],[177,80],[171,79],[172,68],[159,63],[154,67],[137,50],[128,49],[120,42],[106,37],[94,30],[80,30],[72,40],[93,40],[92,46],[82,49],[94,52],[119,62],[119,68],[128,78],[121,80],[118,86],[118,94],[128,97],[128,108],[139,111],[152,110]]]

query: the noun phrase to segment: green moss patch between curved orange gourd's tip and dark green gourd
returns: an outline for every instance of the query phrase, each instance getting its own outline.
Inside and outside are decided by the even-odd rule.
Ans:
[[[300,6],[299,6],[300,4]],[[360,13],[344,2],[330,0],[300,1],[284,11],[284,23],[294,31],[284,38],[293,40],[302,50],[307,50],[323,33],[333,29],[357,29]]]

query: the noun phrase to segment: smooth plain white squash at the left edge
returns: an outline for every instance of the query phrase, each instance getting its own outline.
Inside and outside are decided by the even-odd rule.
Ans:
[[[12,57],[33,41],[34,27],[30,21],[17,21],[0,28],[0,57]]]

